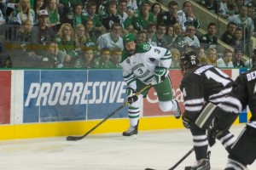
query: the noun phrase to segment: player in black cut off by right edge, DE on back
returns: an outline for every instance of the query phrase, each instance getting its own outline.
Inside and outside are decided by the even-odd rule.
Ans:
[[[256,159],[256,48],[253,53],[253,68],[236,78],[232,91],[218,105],[217,122],[208,132],[209,144],[213,145],[248,105],[252,117],[232,144],[225,170],[247,169]]]

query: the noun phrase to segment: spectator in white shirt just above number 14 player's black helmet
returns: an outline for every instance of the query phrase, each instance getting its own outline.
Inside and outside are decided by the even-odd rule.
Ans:
[[[198,37],[195,36],[195,26],[187,26],[185,33],[185,42],[186,45],[192,48],[199,48],[200,42]]]

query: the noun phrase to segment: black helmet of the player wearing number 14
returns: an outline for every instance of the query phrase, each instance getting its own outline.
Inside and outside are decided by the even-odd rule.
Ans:
[[[194,51],[188,51],[181,55],[179,60],[180,69],[183,74],[186,74],[189,69],[197,66],[199,64],[199,59]]]

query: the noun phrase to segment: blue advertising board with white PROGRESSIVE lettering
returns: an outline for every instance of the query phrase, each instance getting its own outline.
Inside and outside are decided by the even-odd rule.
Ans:
[[[124,102],[120,70],[24,71],[23,122],[102,119]]]

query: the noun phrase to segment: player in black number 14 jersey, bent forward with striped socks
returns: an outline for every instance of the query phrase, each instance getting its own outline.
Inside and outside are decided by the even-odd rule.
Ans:
[[[196,158],[195,165],[185,167],[185,170],[209,170],[207,127],[201,124],[207,122],[207,118],[212,120],[215,116],[209,115],[209,111],[230,93],[233,81],[213,65],[199,65],[194,51],[182,54],[180,68],[183,73],[180,89],[185,107],[182,120],[184,127],[189,128],[192,133]],[[222,141],[222,144],[228,150],[235,137],[230,133],[225,135],[229,135],[229,138]]]

